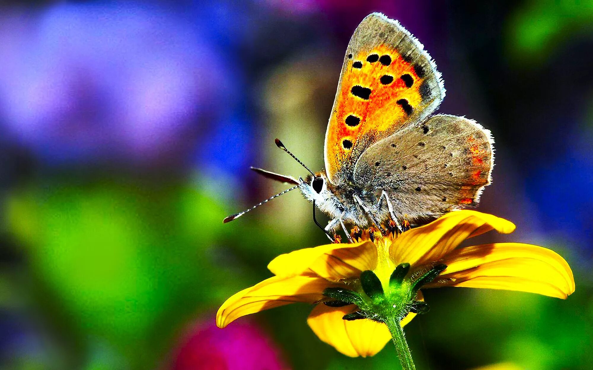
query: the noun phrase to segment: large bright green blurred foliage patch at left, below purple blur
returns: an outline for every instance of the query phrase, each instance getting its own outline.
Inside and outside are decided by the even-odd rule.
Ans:
[[[216,260],[222,209],[189,184],[114,182],[21,189],[7,205],[40,299],[63,310],[56,325],[107,343],[82,345],[98,353],[89,368],[111,351],[154,365],[183,321],[240,288]]]

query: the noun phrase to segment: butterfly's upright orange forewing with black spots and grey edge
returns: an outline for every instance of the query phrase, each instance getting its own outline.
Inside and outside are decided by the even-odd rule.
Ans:
[[[380,13],[356,28],[344,58],[324,147],[332,184],[352,180],[371,144],[420,123],[445,96],[441,75],[423,46]]]

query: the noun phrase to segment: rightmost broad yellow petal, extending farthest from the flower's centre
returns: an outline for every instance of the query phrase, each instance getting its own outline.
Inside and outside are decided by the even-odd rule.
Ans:
[[[506,289],[566,298],[575,291],[570,266],[553,250],[522,243],[497,243],[454,250],[435,287]]]

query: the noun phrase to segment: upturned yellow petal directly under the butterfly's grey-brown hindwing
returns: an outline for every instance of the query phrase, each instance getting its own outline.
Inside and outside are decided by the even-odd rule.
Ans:
[[[452,211],[425,226],[401,234],[391,244],[390,256],[396,265],[435,262],[463,240],[490,230],[508,234],[515,230],[515,225],[504,218],[478,211]]]

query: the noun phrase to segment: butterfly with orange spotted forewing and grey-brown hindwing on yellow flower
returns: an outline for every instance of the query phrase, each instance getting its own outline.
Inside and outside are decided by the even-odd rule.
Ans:
[[[325,169],[305,179],[252,168],[293,184],[330,217],[321,227],[417,224],[476,205],[494,164],[490,131],[465,117],[436,114],[445,97],[441,73],[424,47],[398,21],[372,13],[346,49],[324,146]]]

